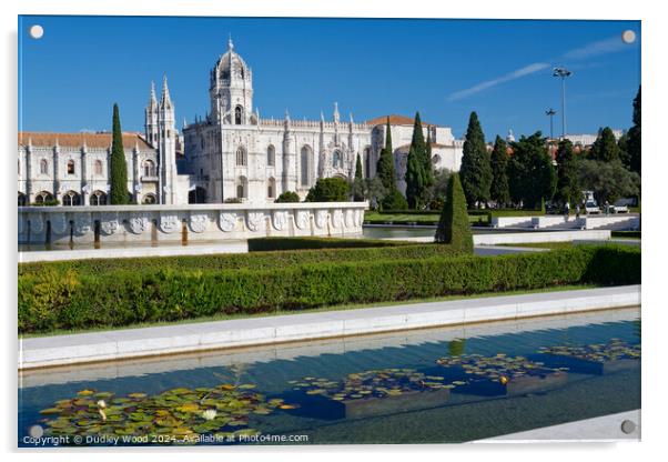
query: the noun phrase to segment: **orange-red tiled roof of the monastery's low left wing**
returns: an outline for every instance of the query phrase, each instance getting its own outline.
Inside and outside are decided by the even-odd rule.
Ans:
[[[37,147],[54,147],[57,143],[67,148],[81,148],[84,143],[88,148],[109,148],[111,145],[111,132],[104,133],[53,133],[39,131],[20,131],[19,145],[31,143]],[[123,132],[123,148],[153,149],[143,137],[136,132]]]

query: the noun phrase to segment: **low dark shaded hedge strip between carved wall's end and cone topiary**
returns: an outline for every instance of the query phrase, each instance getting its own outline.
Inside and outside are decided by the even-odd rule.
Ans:
[[[409,245],[407,241],[387,241],[382,239],[344,239],[344,238],[255,238],[249,239],[249,252],[270,250],[302,249],[362,249],[374,247]]]

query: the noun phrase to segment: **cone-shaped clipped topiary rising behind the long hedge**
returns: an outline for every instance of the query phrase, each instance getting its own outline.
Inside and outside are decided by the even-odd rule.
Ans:
[[[473,253],[473,234],[468,224],[466,197],[458,174],[453,174],[448,182],[445,204],[434,240],[451,244],[465,253]]]

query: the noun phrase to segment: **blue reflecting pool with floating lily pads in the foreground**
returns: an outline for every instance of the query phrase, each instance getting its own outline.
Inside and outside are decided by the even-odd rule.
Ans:
[[[19,444],[453,443],[636,410],[639,313],[24,372]]]

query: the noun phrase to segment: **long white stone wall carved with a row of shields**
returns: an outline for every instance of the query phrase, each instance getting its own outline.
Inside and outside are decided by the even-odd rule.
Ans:
[[[362,235],[368,202],[19,207],[19,243]]]

